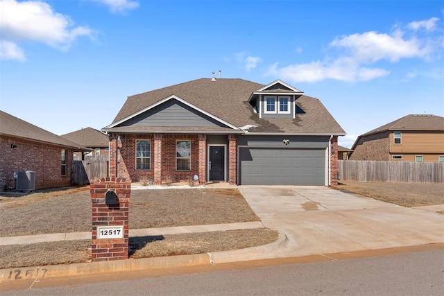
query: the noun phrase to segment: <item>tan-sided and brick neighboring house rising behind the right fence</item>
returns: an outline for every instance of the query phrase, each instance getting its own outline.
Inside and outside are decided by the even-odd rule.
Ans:
[[[444,117],[410,114],[357,137],[350,160],[444,162]]]

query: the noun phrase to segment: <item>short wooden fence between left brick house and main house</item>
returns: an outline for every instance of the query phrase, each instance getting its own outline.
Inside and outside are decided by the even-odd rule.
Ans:
[[[108,177],[108,155],[87,156],[74,160],[71,168],[71,185],[83,186]]]

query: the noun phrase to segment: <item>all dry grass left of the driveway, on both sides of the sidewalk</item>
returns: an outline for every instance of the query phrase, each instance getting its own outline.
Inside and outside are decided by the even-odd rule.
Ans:
[[[0,193],[1,194],[1,193]],[[89,187],[0,196],[0,236],[89,232]],[[258,221],[238,189],[137,190],[130,195],[130,229]],[[219,252],[272,243],[278,232],[226,232],[130,237],[132,258]],[[91,260],[90,240],[0,246],[0,268]]]

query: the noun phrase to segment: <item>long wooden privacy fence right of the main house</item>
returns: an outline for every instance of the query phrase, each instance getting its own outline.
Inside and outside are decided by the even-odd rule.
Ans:
[[[443,183],[444,162],[339,160],[339,182]]]

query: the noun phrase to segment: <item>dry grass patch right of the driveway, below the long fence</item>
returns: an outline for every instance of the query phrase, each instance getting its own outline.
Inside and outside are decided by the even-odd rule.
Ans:
[[[444,183],[342,182],[334,187],[402,207],[444,204]]]

